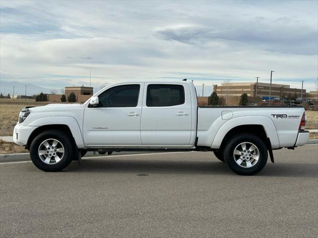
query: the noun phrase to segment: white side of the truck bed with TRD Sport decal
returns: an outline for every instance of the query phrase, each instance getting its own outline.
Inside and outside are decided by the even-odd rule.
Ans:
[[[197,144],[218,148],[227,132],[243,120],[263,126],[273,149],[290,147],[296,143],[304,112],[301,106],[198,107]]]

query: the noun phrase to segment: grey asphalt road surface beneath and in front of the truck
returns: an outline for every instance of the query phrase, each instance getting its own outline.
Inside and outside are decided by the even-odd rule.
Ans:
[[[0,237],[318,237],[318,145],[274,156],[251,177],[211,152],[0,163]]]

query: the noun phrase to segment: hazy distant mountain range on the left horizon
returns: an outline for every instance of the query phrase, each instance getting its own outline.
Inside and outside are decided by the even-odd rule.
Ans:
[[[26,95],[34,95],[43,93],[50,93],[52,89],[49,88],[42,88],[39,86],[35,86],[30,83],[19,83],[19,82],[7,82],[7,81],[0,81],[0,93],[3,95],[13,95],[13,86],[14,86],[14,95],[24,95],[25,94],[25,85],[26,85]],[[60,93],[60,92],[57,92]]]

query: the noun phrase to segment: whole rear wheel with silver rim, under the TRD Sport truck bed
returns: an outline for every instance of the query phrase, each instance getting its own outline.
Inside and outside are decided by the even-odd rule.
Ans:
[[[225,163],[239,175],[254,175],[267,162],[267,147],[256,135],[243,133],[234,136],[224,149]]]

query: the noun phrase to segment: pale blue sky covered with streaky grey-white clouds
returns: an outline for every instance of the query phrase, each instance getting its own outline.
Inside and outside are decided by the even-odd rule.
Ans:
[[[45,88],[143,79],[316,90],[318,1],[0,0],[0,78]]]

